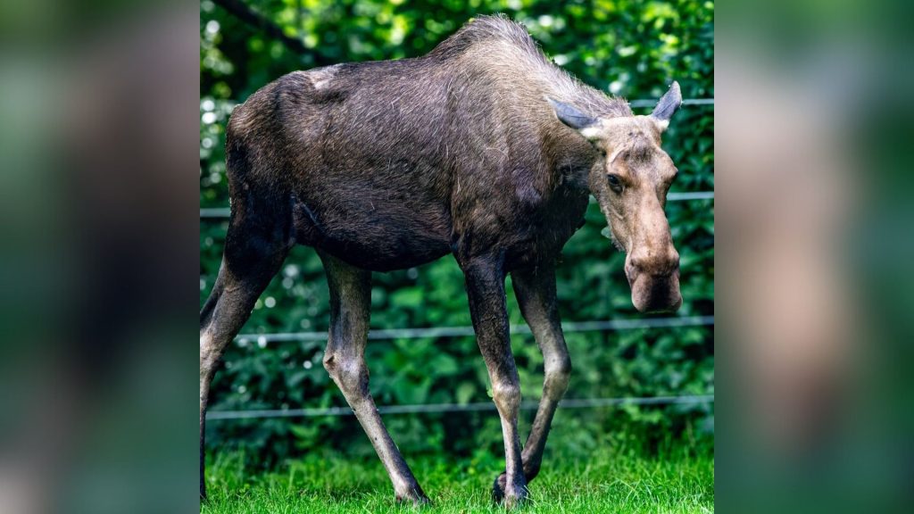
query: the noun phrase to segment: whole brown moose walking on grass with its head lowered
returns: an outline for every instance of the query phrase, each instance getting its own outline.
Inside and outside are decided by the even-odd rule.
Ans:
[[[679,255],[664,215],[676,167],[661,134],[673,82],[650,115],[569,76],[526,32],[480,16],[416,59],[295,71],[253,93],[226,131],[231,215],[200,313],[200,495],[210,380],[293,245],[313,247],[330,290],[324,368],[383,462],[397,501],[429,502],[368,388],[373,272],[451,253],[505,439],[495,501],[522,502],[571,372],[555,263],[590,195],[606,217],[639,311],[675,311]],[[526,444],[505,279],[542,349],[542,399]]]

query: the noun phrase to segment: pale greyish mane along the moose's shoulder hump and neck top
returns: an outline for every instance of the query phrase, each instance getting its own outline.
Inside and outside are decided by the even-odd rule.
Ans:
[[[441,41],[429,59],[467,59],[494,80],[526,85],[591,116],[632,116],[628,102],[591,88],[553,64],[526,32],[504,16],[479,16]]]

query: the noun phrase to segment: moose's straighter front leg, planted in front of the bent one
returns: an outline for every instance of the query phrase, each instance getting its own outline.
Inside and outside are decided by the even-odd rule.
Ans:
[[[520,378],[517,375],[505,308],[505,273],[500,259],[462,262],[470,316],[479,349],[492,382],[495,407],[505,438],[505,505],[514,506],[527,497],[526,477],[521,459],[517,415],[520,412]]]

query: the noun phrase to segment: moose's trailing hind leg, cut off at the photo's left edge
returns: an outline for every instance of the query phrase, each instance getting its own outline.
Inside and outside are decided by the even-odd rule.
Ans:
[[[289,252],[280,237],[228,227],[226,250],[216,284],[200,311],[200,497],[206,498],[205,434],[209,384],[228,343],[250,317],[257,298],[270,284]]]

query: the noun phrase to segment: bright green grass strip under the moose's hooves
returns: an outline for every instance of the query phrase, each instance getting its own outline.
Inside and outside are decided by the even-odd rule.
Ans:
[[[530,485],[527,513],[713,512],[713,455],[645,458],[597,452],[587,462],[547,453]],[[309,456],[277,471],[251,476],[239,455],[218,456],[207,469],[206,514],[414,512],[397,505],[377,459]],[[499,469],[494,458],[409,458],[433,505],[424,512],[502,512],[490,494]]]

